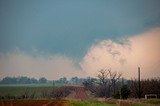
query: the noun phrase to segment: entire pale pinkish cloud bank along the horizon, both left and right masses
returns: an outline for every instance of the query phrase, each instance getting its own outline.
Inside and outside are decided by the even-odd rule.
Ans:
[[[26,54],[15,50],[0,54],[0,78],[30,76],[57,79],[63,76],[93,76],[102,68],[122,72],[125,78],[137,77],[141,67],[143,78],[160,76],[160,28],[120,39],[102,40],[93,44],[77,67],[77,62],[63,55],[42,55],[38,51]]]

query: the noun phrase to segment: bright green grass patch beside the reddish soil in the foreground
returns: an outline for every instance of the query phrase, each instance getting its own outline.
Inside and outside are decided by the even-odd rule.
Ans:
[[[116,104],[106,104],[104,102],[86,100],[86,101],[70,101],[70,106],[117,106]]]

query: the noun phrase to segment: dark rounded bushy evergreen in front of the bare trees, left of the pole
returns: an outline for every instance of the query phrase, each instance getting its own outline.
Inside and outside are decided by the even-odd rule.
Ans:
[[[122,99],[127,99],[129,95],[130,95],[129,87],[127,85],[123,85],[121,88]]]

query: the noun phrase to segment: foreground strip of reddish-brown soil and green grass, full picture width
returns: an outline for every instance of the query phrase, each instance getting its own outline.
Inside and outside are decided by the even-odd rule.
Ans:
[[[0,100],[0,106],[160,106],[159,99],[150,100]]]

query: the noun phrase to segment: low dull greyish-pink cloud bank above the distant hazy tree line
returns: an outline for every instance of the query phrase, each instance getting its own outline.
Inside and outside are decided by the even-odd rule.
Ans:
[[[62,55],[25,54],[19,50],[0,55],[0,77],[30,76],[58,79],[81,76],[85,72],[75,66],[75,61]],[[85,74],[84,74],[85,75]],[[84,76],[83,75],[83,76]]]

